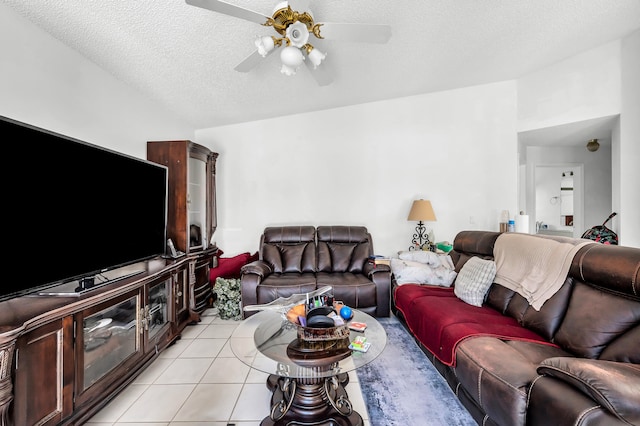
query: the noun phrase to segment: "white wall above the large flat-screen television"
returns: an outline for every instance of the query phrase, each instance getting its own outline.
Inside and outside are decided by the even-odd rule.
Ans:
[[[189,124],[3,4],[0,52],[0,115],[139,158],[148,140],[193,138]]]

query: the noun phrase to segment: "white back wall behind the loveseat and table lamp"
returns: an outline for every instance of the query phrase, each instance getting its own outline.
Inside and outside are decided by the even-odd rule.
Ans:
[[[515,82],[196,132],[220,153],[227,253],[255,251],[266,226],[357,224],[376,252],[406,250],[414,199],[431,200],[436,241],[498,230],[517,205]]]

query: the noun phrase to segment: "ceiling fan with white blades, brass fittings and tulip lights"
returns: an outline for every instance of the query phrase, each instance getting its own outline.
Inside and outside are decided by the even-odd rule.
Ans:
[[[318,84],[325,86],[333,81],[333,75],[326,64],[320,66],[326,57],[326,53],[318,48],[323,39],[382,44],[391,38],[389,25],[315,22],[309,0],[282,1],[271,16],[221,0],[185,1],[191,6],[273,27],[278,35],[258,37],[255,40],[257,50],[234,68],[240,72],[251,71],[263,58],[280,49],[283,74],[294,75],[305,63]]]

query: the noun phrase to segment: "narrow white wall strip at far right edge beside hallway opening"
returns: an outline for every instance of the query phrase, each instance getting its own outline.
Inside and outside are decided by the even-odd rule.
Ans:
[[[622,107],[620,144],[615,156],[614,209],[618,218],[620,243],[640,247],[640,31],[622,40]],[[615,188],[615,186],[614,186]]]

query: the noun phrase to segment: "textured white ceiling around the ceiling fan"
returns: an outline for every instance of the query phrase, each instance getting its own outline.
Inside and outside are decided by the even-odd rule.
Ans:
[[[273,30],[184,0],[0,1],[195,128],[515,79],[640,28],[639,0],[311,0],[316,22],[392,26],[384,45],[325,40],[321,87],[278,55],[234,71]]]

